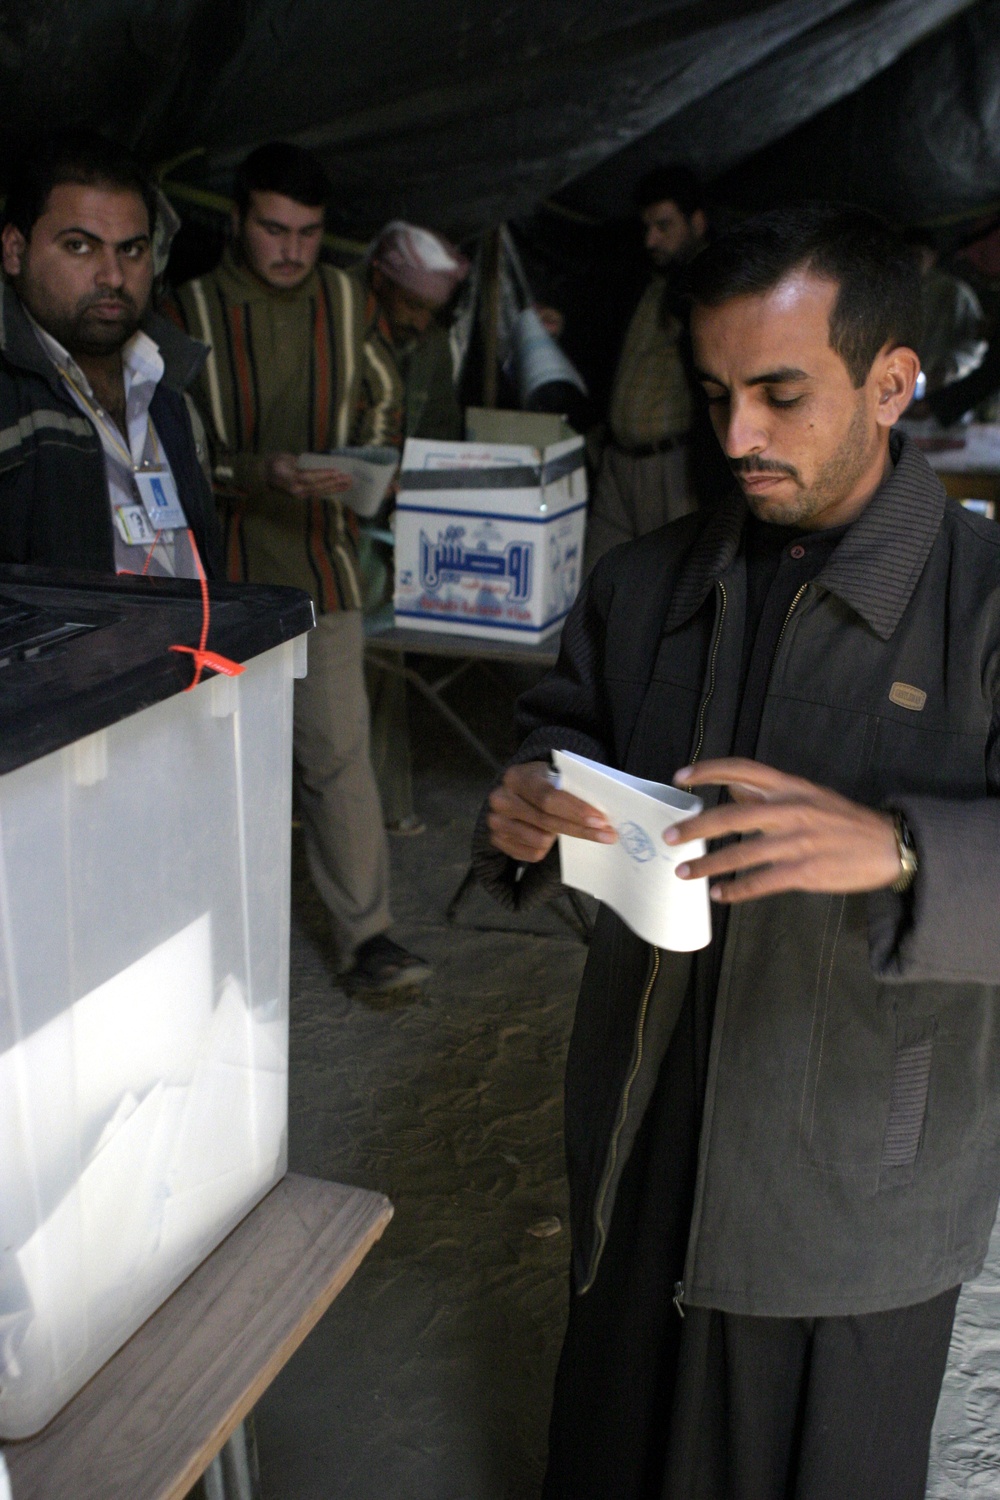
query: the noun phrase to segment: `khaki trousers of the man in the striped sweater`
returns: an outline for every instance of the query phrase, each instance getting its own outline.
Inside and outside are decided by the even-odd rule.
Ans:
[[[330,914],[337,960],[390,926],[388,844],[369,752],[360,610],[319,615],[309,675],[295,682],[295,795],[309,873]]]

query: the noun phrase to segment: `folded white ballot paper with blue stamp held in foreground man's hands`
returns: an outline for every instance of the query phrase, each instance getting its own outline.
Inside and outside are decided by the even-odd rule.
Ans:
[[[559,834],[562,882],[604,902],[634,933],[657,948],[693,952],[712,938],[708,880],[679,880],[679,864],[699,860],[705,840],[666,844],[670,824],[694,818],[702,800],[660,782],[612,771],[597,760],[555,750],[559,788],[604,813],[618,843]]]

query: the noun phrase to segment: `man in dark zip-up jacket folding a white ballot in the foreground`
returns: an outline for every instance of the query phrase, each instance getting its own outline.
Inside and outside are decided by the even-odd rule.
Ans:
[[[738,483],[600,561],[477,830],[520,904],[619,837],[552,752],[705,801],[661,837],[712,942],[601,908],[580,990],[544,1494],[922,1500],[1000,1192],[1000,534],[892,434],[919,282],[877,219],[745,222],[691,330]]]

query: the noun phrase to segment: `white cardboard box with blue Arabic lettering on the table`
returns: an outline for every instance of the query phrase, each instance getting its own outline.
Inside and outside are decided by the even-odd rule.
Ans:
[[[408,438],[396,507],[396,624],[541,640],[580,588],[583,438]]]

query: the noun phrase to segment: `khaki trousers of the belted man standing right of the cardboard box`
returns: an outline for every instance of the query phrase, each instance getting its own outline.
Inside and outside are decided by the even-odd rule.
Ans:
[[[609,444],[594,484],[583,572],[619,542],[645,537],[696,508],[687,442],[640,459]]]

